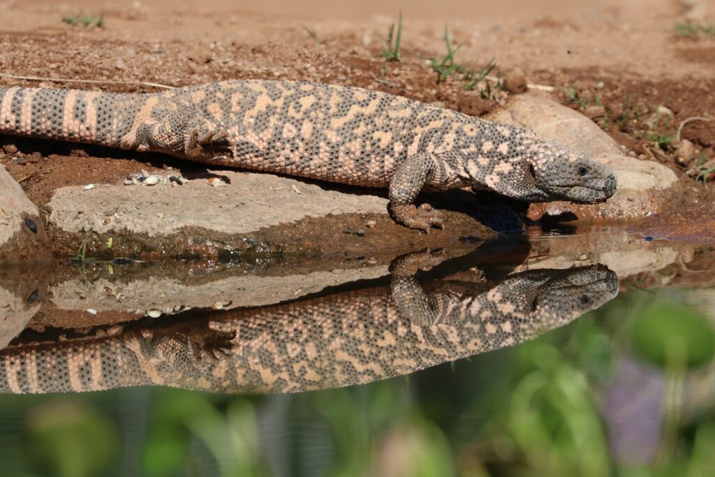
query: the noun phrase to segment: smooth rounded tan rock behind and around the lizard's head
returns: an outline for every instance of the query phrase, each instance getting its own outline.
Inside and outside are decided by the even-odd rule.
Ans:
[[[594,205],[532,204],[528,212],[532,220],[545,215],[564,220],[609,221],[649,217],[666,210],[666,205],[679,192],[678,178],[671,169],[658,162],[623,155],[621,147],[591,119],[546,97],[537,94],[513,96],[505,108],[495,110],[488,117],[563,142],[616,172],[618,190],[607,202]]]

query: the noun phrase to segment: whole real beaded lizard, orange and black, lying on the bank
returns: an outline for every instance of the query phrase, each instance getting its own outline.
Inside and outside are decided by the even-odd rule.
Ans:
[[[358,87],[232,80],[154,94],[0,88],[0,133],[214,166],[388,188],[406,227],[443,228],[420,190],[473,187],[528,202],[603,202],[613,170],[510,124]]]

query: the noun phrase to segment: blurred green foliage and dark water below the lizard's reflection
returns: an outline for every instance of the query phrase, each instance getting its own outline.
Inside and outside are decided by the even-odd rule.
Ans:
[[[2,395],[2,475],[711,475],[715,338],[685,296],[633,290],[529,343],[353,388]],[[668,394],[656,458],[635,464],[601,412],[628,356]]]

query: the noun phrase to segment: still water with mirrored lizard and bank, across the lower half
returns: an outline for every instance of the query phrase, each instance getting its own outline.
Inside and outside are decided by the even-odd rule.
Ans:
[[[606,228],[4,270],[3,475],[709,475],[713,257]]]

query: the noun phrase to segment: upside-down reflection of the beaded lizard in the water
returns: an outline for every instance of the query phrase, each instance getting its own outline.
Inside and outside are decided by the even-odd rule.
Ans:
[[[389,286],[14,343],[0,351],[0,392],[164,385],[297,393],[370,383],[536,338],[618,293],[618,277],[603,265],[469,287],[445,280],[429,293],[410,266],[392,271]]]

